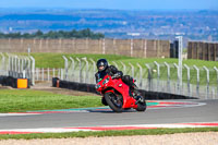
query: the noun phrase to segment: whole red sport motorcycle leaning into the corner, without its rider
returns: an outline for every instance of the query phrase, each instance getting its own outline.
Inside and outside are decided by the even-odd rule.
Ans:
[[[121,77],[106,75],[96,84],[96,89],[102,95],[114,112],[122,112],[126,109],[136,109],[137,111],[146,110],[146,101],[142,96],[133,98],[130,96],[130,87],[122,82]]]

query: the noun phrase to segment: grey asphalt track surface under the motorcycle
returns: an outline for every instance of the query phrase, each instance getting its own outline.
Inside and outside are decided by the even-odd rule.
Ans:
[[[218,99],[174,100],[197,102],[199,106],[148,108],[145,112],[93,111],[43,113],[32,116],[0,116],[0,130],[72,128],[100,125],[164,124],[189,122],[218,122]]]

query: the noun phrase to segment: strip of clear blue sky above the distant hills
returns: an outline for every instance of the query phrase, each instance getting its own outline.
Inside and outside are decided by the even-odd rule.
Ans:
[[[0,8],[218,10],[218,0],[0,0]]]

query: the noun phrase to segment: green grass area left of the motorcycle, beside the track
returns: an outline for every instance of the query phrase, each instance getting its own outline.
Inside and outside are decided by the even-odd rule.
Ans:
[[[0,112],[102,106],[99,96],[69,96],[31,89],[0,89]]]

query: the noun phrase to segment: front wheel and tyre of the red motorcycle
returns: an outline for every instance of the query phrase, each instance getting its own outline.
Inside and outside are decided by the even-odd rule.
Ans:
[[[123,98],[122,96],[117,96],[113,93],[106,93],[105,94],[105,99],[109,107],[114,111],[114,112],[122,112],[123,108]]]

